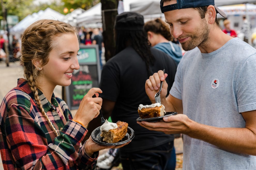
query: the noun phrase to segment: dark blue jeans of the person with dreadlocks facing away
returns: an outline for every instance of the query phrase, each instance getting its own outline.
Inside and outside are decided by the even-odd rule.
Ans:
[[[173,141],[138,152],[120,151],[124,170],[163,170],[171,156]]]

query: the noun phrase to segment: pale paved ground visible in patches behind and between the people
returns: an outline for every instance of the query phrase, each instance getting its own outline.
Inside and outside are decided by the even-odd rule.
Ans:
[[[19,62],[10,63],[9,67],[6,67],[5,62],[0,62],[0,72],[2,74],[2,78],[0,79],[0,100],[2,100],[6,93],[10,91],[13,87],[17,86],[17,79],[23,78],[22,67],[19,65]],[[56,96],[62,96],[62,88],[61,86],[57,86],[54,90],[54,94]],[[71,111],[72,114],[76,113],[76,110]],[[183,152],[183,142],[182,138],[178,138],[174,140],[174,145],[177,153],[177,170],[182,169],[182,152]],[[181,168],[180,168],[181,166]],[[0,161],[0,170],[3,169],[2,161]]]

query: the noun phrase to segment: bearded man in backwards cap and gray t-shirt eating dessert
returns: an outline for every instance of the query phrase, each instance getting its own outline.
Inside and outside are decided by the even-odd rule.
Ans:
[[[161,0],[171,34],[188,52],[168,97],[167,74],[146,80],[152,103],[164,81],[161,103],[180,114],[137,122],[166,134],[184,134],[183,170],[256,169],[256,49],[222,32],[214,0]]]

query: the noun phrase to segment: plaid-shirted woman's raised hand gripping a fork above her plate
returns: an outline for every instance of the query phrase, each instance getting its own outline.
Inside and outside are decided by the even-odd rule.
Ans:
[[[87,125],[99,115],[102,105],[102,98],[99,97],[99,93],[102,93],[100,88],[91,88],[88,91],[82,99],[76,115],[73,117],[74,120]],[[96,95],[96,97],[93,97],[93,95]]]

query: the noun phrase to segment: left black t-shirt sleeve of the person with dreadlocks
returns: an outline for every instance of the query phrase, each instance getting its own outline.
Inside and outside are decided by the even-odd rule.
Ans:
[[[120,89],[120,69],[112,63],[103,66],[101,72],[100,97],[116,101]]]

